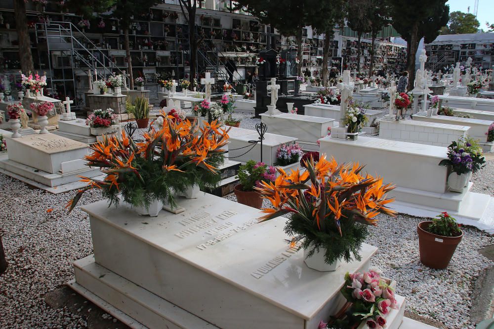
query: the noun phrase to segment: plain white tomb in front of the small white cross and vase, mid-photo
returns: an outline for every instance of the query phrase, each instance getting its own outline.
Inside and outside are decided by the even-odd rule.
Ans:
[[[270,133],[296,137],[302,149],[311,151],[319,151],[317,141],[327,136],[335,123],[334,119],[291,113],[263,113],[261,118]]]

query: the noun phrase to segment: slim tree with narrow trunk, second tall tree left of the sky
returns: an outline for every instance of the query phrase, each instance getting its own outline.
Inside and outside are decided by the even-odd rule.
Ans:
[[[362,35],[371,32],[370,13],[372,0],[349,0],[348,1],[348,26],[357,32],[357,71],[360,75],[360,57],[362,50]]]

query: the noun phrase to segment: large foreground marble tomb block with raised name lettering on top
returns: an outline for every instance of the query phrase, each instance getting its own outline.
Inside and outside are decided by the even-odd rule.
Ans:
[[[257,223],[258,210],[210,194],[178,205],[152,220],[84,206],[95,262],[220,328],[317,328],[344,304],[344,274],[368,269],[377,250],[364,244],[362,261],[319,272],[287,244],[284,218]]]

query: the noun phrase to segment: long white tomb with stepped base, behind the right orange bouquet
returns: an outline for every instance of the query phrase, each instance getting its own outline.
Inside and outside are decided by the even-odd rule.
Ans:
[[[362,136],[357,141],[326,137],[320,140],[320,152],[338,162],[358,161],[367,172],[395,184],[389,195],[396,197],[391,207],[398,212],[434,217],[448,211],[460,223],[494,232],[494,212],[488,210],[491,196],[471,192],[472,183],[463,193],[447,190],[448,168],[438,165],[447,158],[446,147]]]

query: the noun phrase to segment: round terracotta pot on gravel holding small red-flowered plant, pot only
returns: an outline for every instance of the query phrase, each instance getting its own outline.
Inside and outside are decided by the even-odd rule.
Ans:
[[[461,235],[447,237],[427,232],[425,229],[432,221],[422,221],[417,225],[420,262],[431,268],[444,269],[448,267],[456,246],[463,237]]]

